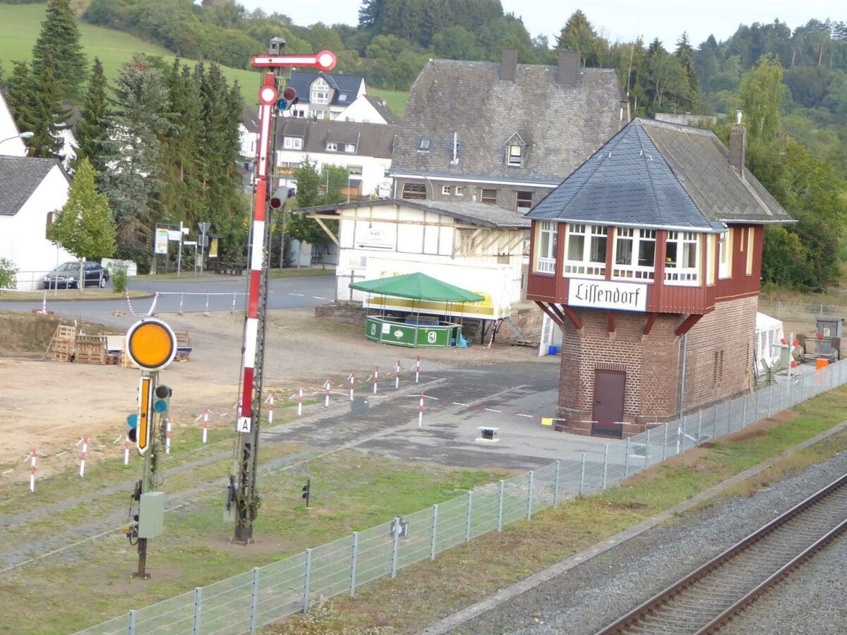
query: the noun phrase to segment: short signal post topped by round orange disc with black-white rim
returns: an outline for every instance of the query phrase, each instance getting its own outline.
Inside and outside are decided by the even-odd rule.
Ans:
[[[176,336],[161,320],[141,319],[126,333],[126,353],[141,368],[138,411],[126,419],[126,436],[136,444],[144,459],[141,480],[136,483],[130,501],[130,524],[126,527],[126,535],[130,544],[138,545],[138,570],[132,576],[147,579],[150,577],[147,573],[147,539],[163,533],[164,493],[155,491],[155,475],[171,395],[168,385],[158,383],[158,373],[174,360]],[[157,429],[158,435],[155,434]],[[136,508],[136,514],[132,513],[133,508]]]

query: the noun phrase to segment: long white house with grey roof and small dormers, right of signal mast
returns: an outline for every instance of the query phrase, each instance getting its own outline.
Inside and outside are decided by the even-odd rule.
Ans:
[[[399,131],[396,125],[362,124],[352,121],[325,121],[286,117],[276,130],[277,174],[280,185],[296,188],[292,174],[306,157],[320,171],[337,165],[349,174],[342,191],[350,200],[389,196],[385,174],[391,166],[391,150]]]

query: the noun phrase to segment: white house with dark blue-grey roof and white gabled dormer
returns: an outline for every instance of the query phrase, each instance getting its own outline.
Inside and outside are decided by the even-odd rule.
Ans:
[[[290,117],[336,119],[365,94],[361,75],[331,75],[323,71],[292,70],[287,86],[297,92],[297,103],[285,112]]]

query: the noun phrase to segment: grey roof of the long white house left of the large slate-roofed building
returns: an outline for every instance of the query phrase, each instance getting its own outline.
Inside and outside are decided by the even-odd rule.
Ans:
[[[285,136],[299,136],[303,139],[300,152],[327,152],[327,142],[335,141],[356,144],[356,152],[338,152],[339,157],[390,158],[394,138],[399,131],[398,126],[390,124],[363,124],[338,119],[313,121],[307,117],[285,117],[277,124],[276,145],[282,150]]]

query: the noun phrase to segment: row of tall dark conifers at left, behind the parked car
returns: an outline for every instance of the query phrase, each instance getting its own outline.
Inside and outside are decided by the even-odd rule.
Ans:
[[[157,223],[206,221],[223,239],[220,257],[241,259],[249,209],[238,169],[243,100],[237,82],[228,85],[216,63],[192,69],[179,58],[167,63],[136,56],[108,86],[99,59],[89,70],[69,0],[49,0],[31,62],[14,61],[6,84],[19,130],[35,133],[26,140],[31,157],[64,158],[59,134],[70,111],[62,98],[84,96],[78,101],[71,199],[95,200],[91,188],[105,196],[114,235],[78,256],[115,255],[138,262],[143,271]],[[74,245],[74,225],[61,213],[56,220],[51,239]]]

